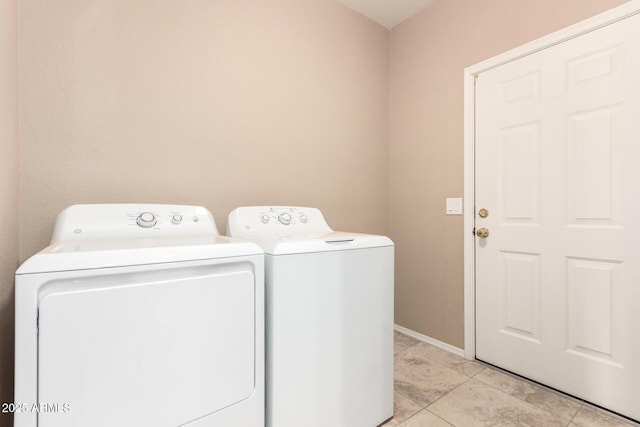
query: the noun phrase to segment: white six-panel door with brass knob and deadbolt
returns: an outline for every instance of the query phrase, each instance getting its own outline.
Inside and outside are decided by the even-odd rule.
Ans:
[[[475,97],[476,357],[640,420],[640,15]]]

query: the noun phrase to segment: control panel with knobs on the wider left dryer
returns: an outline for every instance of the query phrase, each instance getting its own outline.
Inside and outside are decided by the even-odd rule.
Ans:
[[[86,204],[69,206],[58,215],[51,243],[195,235],[219,235],[211,212],[201,206]]]

